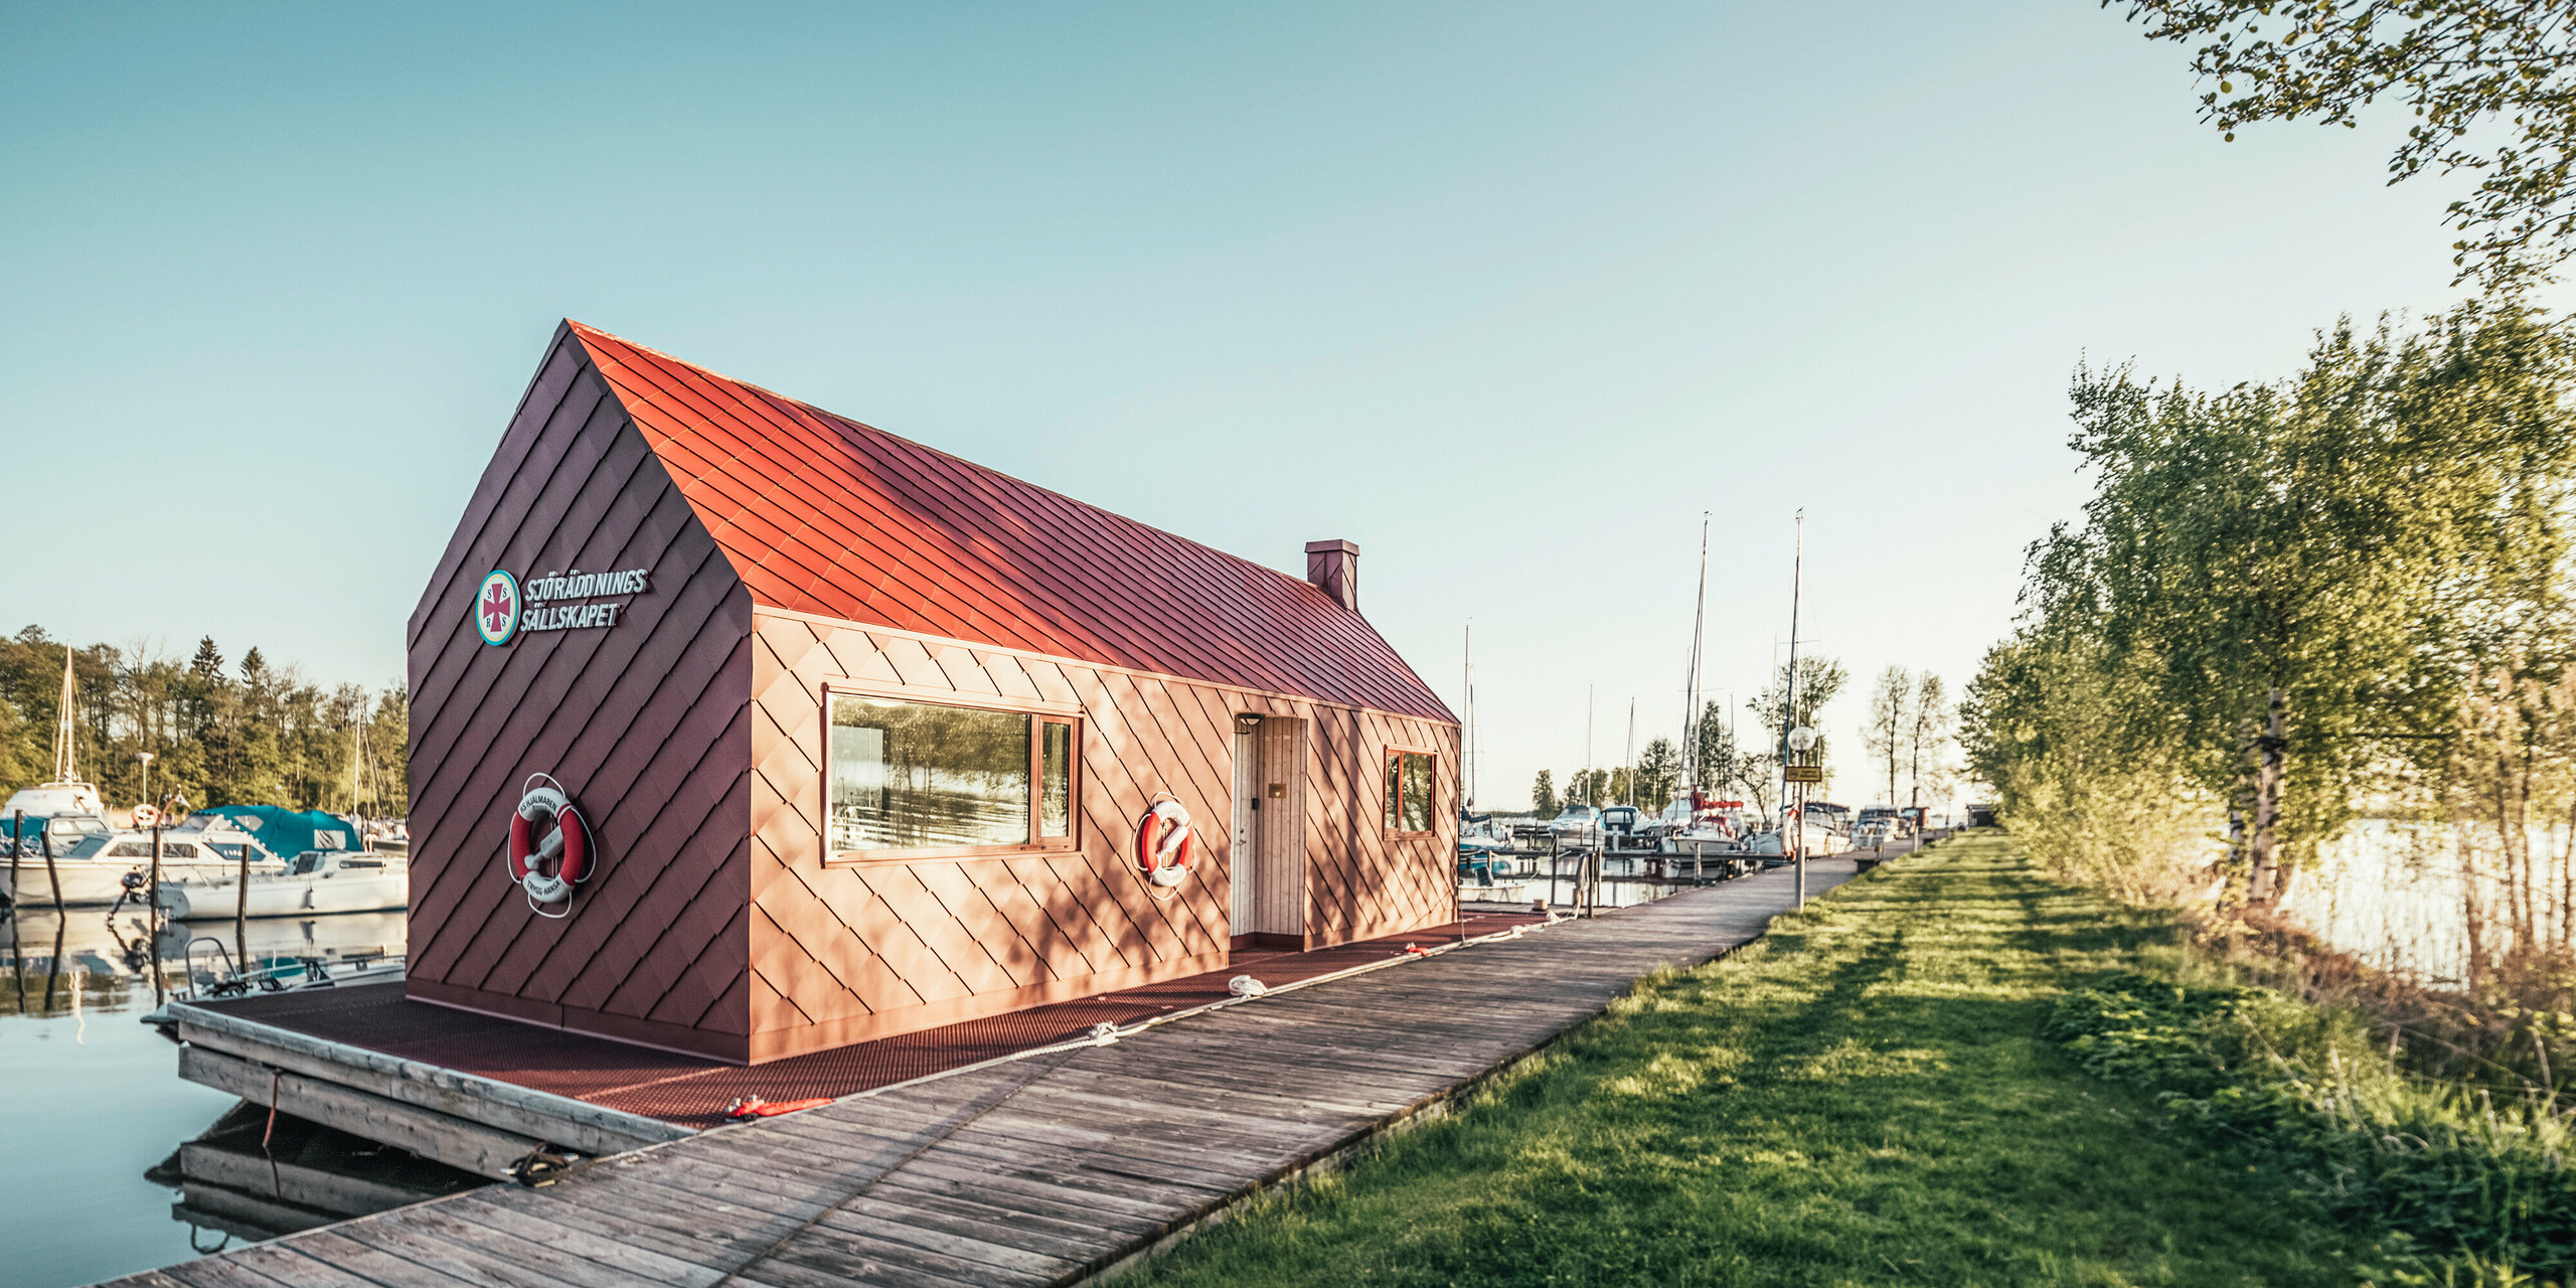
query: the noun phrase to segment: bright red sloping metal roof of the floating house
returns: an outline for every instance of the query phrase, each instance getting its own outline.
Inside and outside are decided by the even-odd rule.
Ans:
[[[1455,721],[1298,577],[564,325],[755,603]]]

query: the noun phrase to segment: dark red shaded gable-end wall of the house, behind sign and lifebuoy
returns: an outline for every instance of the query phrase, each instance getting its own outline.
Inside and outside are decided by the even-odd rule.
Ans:
[[[652,569],[618,623],[489,647],[492,569]],[[719,1059],[750,1036],[752,600],[559,330],[410,623],[417,999]],[[592,819],[569,920],[507,873],[528,773]]]

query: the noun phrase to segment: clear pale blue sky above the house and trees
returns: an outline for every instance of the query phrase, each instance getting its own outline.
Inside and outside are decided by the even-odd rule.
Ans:
[[[2277,379],[2439,309],[2388,129],[2192,118],[2084,0],[0,5],[0,598],[402,675],[559,317],[1301,572],[1481,796],[1788,631],[1953,693],[2081,505],[2087,355]]]

